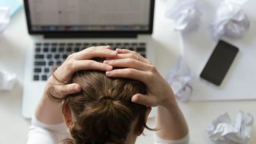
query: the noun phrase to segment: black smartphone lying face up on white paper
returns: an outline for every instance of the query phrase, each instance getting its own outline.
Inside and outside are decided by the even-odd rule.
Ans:
[[[220,40],[212,52],[210,59],[207,61],[200,77],[219,86],[225,78],[238,51],[239,49],[236,46]]]

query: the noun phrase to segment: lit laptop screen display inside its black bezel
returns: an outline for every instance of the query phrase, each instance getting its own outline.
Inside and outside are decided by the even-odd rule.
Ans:
[[[33,31],[147,31],[150,0],[29,0]]]

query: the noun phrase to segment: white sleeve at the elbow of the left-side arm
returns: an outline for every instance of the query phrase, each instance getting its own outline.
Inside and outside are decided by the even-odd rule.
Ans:
[[[34,116],[27,135],[27,144],[56,144],[70,138],[64,123],[49,125],[39,122]]]

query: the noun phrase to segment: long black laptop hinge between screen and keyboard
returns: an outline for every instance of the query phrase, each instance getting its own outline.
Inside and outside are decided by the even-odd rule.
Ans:
[[[137,38],[138,34],[123,34],[123,33],[113,33],[113,34],[79,34],[79,33],[65,33],[65,34],[44,34],[44,38]]]

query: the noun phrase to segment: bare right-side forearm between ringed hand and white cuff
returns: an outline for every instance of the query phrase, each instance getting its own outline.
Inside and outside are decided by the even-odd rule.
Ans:
[[[171,92],[172,93],[172,92]],[[164,106],[158,106],[156,115],[157,135],[167,140],[177,140],[188,134],[188,126],[173,94]]]

